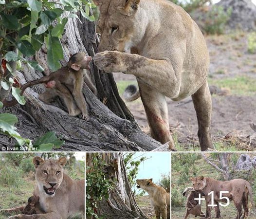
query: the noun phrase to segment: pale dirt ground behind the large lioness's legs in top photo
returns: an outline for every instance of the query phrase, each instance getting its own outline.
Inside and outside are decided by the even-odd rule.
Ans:
[[[211,133],[218,150],[256,148],[256,133],[250,128],[251,123],[256,123],[256,54],[247,52],[247,35],[238,32],[206,36],[211,59],[209,85],[229,91],[228,95],[212,96]],[[114,77],[119,91],[120,84],[136,83],[133,75],[114,73]],[[187,103],[189,100],[191,97],[180,102],[167,99],[169,124],[178,139],[177,148],[198,150],[196,113],[192,102]],[[142,102],[137,100],[127,105],[141,128],[148,132]]]

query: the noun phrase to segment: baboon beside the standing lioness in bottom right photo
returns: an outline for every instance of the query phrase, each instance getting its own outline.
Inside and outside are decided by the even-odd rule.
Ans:
[[[191,188],[191,187],[189,187],[189,188]],[[190,193],[187,197],[186,215],[185,215],[184,219],[187,219],[189,214],[192,214],[195,217],[199,216],[199,217],[205,218],[205,214],[201,211],[201,205],[199,204],[199,201],[195,200],[195,198],[199,198],[199,194],[201,194],[201,196],[205,196],[204,191],[201,189],[199,189],[199,190],[188,189],[187,192],[185,192],[185,191],[183,192],[183,196],[186,196],[189,191],[190,191]]]

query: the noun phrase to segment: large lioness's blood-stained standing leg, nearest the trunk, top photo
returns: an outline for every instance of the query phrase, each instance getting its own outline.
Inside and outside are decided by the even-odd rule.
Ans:
[[[168,110],[165,95],[138,82],[141,99],[146,111],[150,135],[155,140],[165,144],[169,142],[169,148],[175,150],[175,146],[169,130]]]

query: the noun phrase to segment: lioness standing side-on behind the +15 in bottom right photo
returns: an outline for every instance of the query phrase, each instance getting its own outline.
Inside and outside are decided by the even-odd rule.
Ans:
[[[248,210],[248,197],[250,195],[251,203],[253,203],[253,194],[250,183],[243,179],[235,179],[225,182],[220,182],[208,177],[195,177],[190,178],[193,183],[195,190],[202,189],[205,192],[205,202],[206,202],[206,218],[211,217],[211,209],[209,204],[211,203],[211,195],[208,195],[211,191],[214,192],[214,204],[217,204],[215,207],[216,218],[220,218],[219,211],[219,201],[225,202],[225,199],[220,200],[220,191],[227,191],[222,196],[227,197],[230,201],[234,201],[234,205],[237,209],[238,216],[236,219],[240,219],[242,216],[242,205],[244,209],[243,219],[246,219],[249,215]]]

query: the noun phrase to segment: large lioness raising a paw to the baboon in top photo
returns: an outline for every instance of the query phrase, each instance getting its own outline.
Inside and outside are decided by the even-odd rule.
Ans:
[[[94,2],[100,6],[101,34],[100,53],[94,56],[94,63],[107,73],[136,76],[139,91],[128,99],[141,96],[150,135],[162,144],[169,142],[169,148],[175,150],[165,96],[180,101],[192,95],[201,150],[214,149],[207,83],[209,54],[195,21],[167,0]]]

